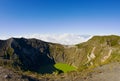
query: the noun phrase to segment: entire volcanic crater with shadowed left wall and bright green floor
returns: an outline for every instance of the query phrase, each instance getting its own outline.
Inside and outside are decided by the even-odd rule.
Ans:
[[[10,38],[0,40],[0,65],[32,77],[40,78],[41,74],[62,77],[65,74],[70,79],[72,74],[85,75],[93,68],[120,62],[119,49],[120,37],[115,35],[94,36],[73,46],[38,39]]]

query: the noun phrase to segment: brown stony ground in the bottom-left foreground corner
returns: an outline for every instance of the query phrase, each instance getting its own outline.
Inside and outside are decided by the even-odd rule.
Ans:
[[[39,81],[35,78],[21,75],[0,66],[0,81]]]

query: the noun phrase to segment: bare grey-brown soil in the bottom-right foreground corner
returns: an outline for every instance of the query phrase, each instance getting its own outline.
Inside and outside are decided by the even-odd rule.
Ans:
[[[120,81],[120,63],[97,67],[94,72],[81,81]]]

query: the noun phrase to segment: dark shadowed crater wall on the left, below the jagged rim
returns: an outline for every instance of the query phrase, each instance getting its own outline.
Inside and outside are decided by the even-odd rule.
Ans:
[[[13,51],[11,54],[8,51]],[[0,40],[0,56],[13,60],[14,66],[19,66],[23,70],[37,70],[41,66],[54,64],[54,59],[50,56],[49,45],[37,39],[10,38]]]

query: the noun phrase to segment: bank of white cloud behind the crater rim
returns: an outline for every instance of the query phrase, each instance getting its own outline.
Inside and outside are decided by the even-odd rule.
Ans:
[[[65,45],[74,45],[85,42],[90,39],[90,35],[76,35],[76,34],[32,34],[14,37],[36,38],[46,42],[60,43]],[[10,36],[1,37],[0,39],[10,38]]]

